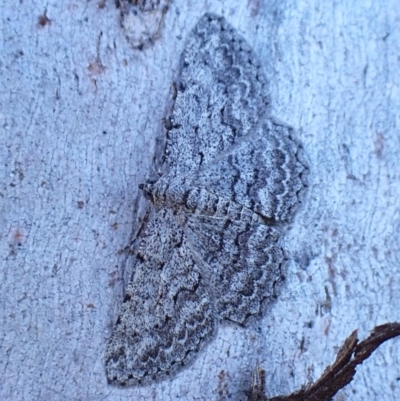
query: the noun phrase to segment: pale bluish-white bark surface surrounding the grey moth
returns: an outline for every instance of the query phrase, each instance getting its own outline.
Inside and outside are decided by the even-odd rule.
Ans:
[[[244,400],[318,379],[356,328],[400,321],[399,2],[175,0],[161,37],[132,49],[114,1],[1,1],[0,398]],[[41,19],[47,8],[47,20]],[[277,301],[222,326],[176,378],[107,385],[104,351],[185,38],[223,14],[298,130],[310,188],[285,237]],[[400,399],[400,340],[337,400]]]

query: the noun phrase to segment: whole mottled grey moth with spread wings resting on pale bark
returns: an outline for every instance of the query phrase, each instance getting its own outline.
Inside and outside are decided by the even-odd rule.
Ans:
[[[249,45],[206,14],[191,33],[133,277],[106,354],[110,382],[174,375],[218,324],[261,311],[281,278],[279,246],[305,187],[300,146],[267,117]]]

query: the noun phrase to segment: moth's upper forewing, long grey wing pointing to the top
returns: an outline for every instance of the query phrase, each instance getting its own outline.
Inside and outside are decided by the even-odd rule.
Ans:
[[[167,133],[170,170],[189,173],[247,135],[269,109],[267,85],[250,46],[225,21],[203,16],[183,53]]]

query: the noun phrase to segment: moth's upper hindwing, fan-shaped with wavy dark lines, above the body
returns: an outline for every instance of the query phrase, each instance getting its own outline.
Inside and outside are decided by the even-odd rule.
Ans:
[[[292,129],[272,119],[196,171],[190,181],[276,224],[301,201],[307,168]]]

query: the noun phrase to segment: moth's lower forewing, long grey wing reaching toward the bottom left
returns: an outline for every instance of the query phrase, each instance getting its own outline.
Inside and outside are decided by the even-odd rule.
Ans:
[[[199,263],[171,212],[149,219],[106,352],[110,383],[172,376],[212,337],[214,312]]]

